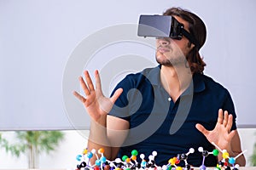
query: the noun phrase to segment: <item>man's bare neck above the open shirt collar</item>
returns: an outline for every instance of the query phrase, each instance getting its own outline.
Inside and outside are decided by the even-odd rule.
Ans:
[[[189,87],[192,73],[184,66],[161,66],[160,80],[166,92],[176,101]]]

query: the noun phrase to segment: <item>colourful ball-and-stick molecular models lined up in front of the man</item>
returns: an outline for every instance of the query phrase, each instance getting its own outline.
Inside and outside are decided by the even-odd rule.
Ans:
[[[122,156],[122,158],[116,158],[114,161],[109,161],[104,156],[104,150],[87,150],[84,149],[81,155],[76,157],[79,164],[77,165],[76,170],[207,170],[204,165],[206,157],[209,155],[218,156],[219,151],[222,153],[223,160],[218,162],[217,167],[214,167],[214,170],[238,170],[239,166],[236,164],[236,158],[241,156],[245,151],[241,152],[236,157],[230,157],[227,150],[220,150],[218,146],[212,143],[217,149],[209,152],[207,150],[203,150],[202,147],[199,147],[198,150],[202,155],[202,163],[200,167],[193,167],[189,165],[187,159],[190,154],[193,154],[195,150],[190,148],[187,153],[177,154],[177,156],[172,157],[167,161],[166,165],[158,166],[155,164],[154,158],[157,156],[157,152],[153,151],[148,159],[145,158],[144,154],[140,154],[140,158],[142,161],[137,161],[138,152],[137,150],[131,150],[131,156]],[[90,159],[96,156],[96,161],[94,164],[90,164]],[[148,160],[148,161],[147,161]],[[226,161],[228,160],[228,161]],[[184,162],[184,167],[177,166],[181,161]],[[231,165],[231,166],[229,166]]]

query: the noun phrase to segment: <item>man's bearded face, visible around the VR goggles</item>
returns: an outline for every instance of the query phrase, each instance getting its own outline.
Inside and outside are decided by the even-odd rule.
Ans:
[[[184,29],[189,31],[189,23],[178,16],[172,16],[178,22],[184,25]],[[193,44],[189,46],[189,40],[186,37],[182,39],[172,39],[162,37],[156,40],[156,60],[161,65],[180,65],[185,61],[185,56],[189,54]]]

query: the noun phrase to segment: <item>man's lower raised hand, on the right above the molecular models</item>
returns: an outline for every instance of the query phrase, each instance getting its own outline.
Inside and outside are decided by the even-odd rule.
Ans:
[[[201,124],[197,123],[195,127],[203,133],[209,142],[214,142],[222,150],[231,150],[231,139],[236,131],[231,131],[233,116],[228,111],[218,110],[218,122],[212,131],[208,131]]]

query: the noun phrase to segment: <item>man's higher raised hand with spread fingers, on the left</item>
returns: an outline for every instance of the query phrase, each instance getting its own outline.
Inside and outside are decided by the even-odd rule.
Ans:
[[[108,112],[112,109],[115,100],[119,98],[123,89],[119,88],[111,98],[106,98],[102,94],[102,84],[98,71],[95,71],[96,88],[94,88],[94,84],[91,81],[88,71],[84,71],[84,77],[86,83],[84,82],[83,77],[79,77],[79,82],[84,90],[85,97],[76,91],[74,91],[73,94],[84,104],[90,118],[98,122],[102,116],[107,116]]]

